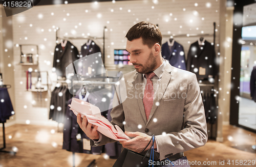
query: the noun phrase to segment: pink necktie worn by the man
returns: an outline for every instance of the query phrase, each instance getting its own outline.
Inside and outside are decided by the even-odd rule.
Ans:
[[[146,87],[143,96],[146,120],[150,117],[151,108],[153,106],[154,88],[151,78],[155,75],[154,72],[146,73]]]

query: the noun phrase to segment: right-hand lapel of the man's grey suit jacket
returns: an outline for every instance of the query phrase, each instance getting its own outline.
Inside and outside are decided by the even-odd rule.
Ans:
[[[166,63],[166,66],[164,68],[163,75],[162,75],[162,78],[160,80],[160,84],[159,84],[158,89],[157,89],[157,93],[154,96],[153,106],[151,108],[150,117],[148,118],[146,125],[148,124],[148,122],[150,122],[152,116],[156,112],[156,109],[157,109],[156,102],[160,103],[160,101],[163,97],[163,94],[164,94],[164,92],[166,91],[166,88],[169,85],[169,81],[172,78],[172,75],[170,74],[172,72],[172,70],[171,70],[172,66],[166,60],[165,60],[165,63]],[[142,101],[142,99],[141,99],[141,101]],[[142,104],[143,104],[143,101],[142,101]],[[144,111],[144,115],[145,115],[145,111]]]

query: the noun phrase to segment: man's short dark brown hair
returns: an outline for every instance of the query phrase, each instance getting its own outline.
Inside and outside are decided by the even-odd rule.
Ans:
[[[142,42],[149,48],[152,48],[155,43],[159,43],[162,49],[162,34],[155,24],[141,21],[127,32],[125,36],[129,41],[142,37]]]

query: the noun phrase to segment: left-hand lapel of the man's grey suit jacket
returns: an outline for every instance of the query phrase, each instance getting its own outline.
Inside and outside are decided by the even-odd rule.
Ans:
[[[143,99],[140,98],[140,95],[142,94],[142,89],[141,87],[139,87],[139,89],[136,89],[136,84],[141,85],[141,83],[143,83],[143,78],[142,78],[142,74],[141,73],[137,73],[137,75],[135,76],[135,80],[133,82],[133,88],[134,88],[134,92],[136,92],[135,94],[135,98],[137,99],[139,108],[140,108],[140,112],[141,115],[143,117],[143,120],[146,123],[146,114],[145,114],[145,109],[144,109],[144,104],[143,104]],[[137,96],[137,97],[136,97]]]

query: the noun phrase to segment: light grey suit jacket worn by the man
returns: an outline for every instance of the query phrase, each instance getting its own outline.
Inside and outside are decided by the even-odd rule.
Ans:
[[[207,127],[202,96],[194,73],[166,66],[154,96],[151,114],[146,120],[142,74],[136,70],[124,74],[117,86],[111,111],[112,124],[123,131],[156,135],[158,158],[175,160],[184,151],[204,146]],[[100,146],[115,142],[102,135]]]

